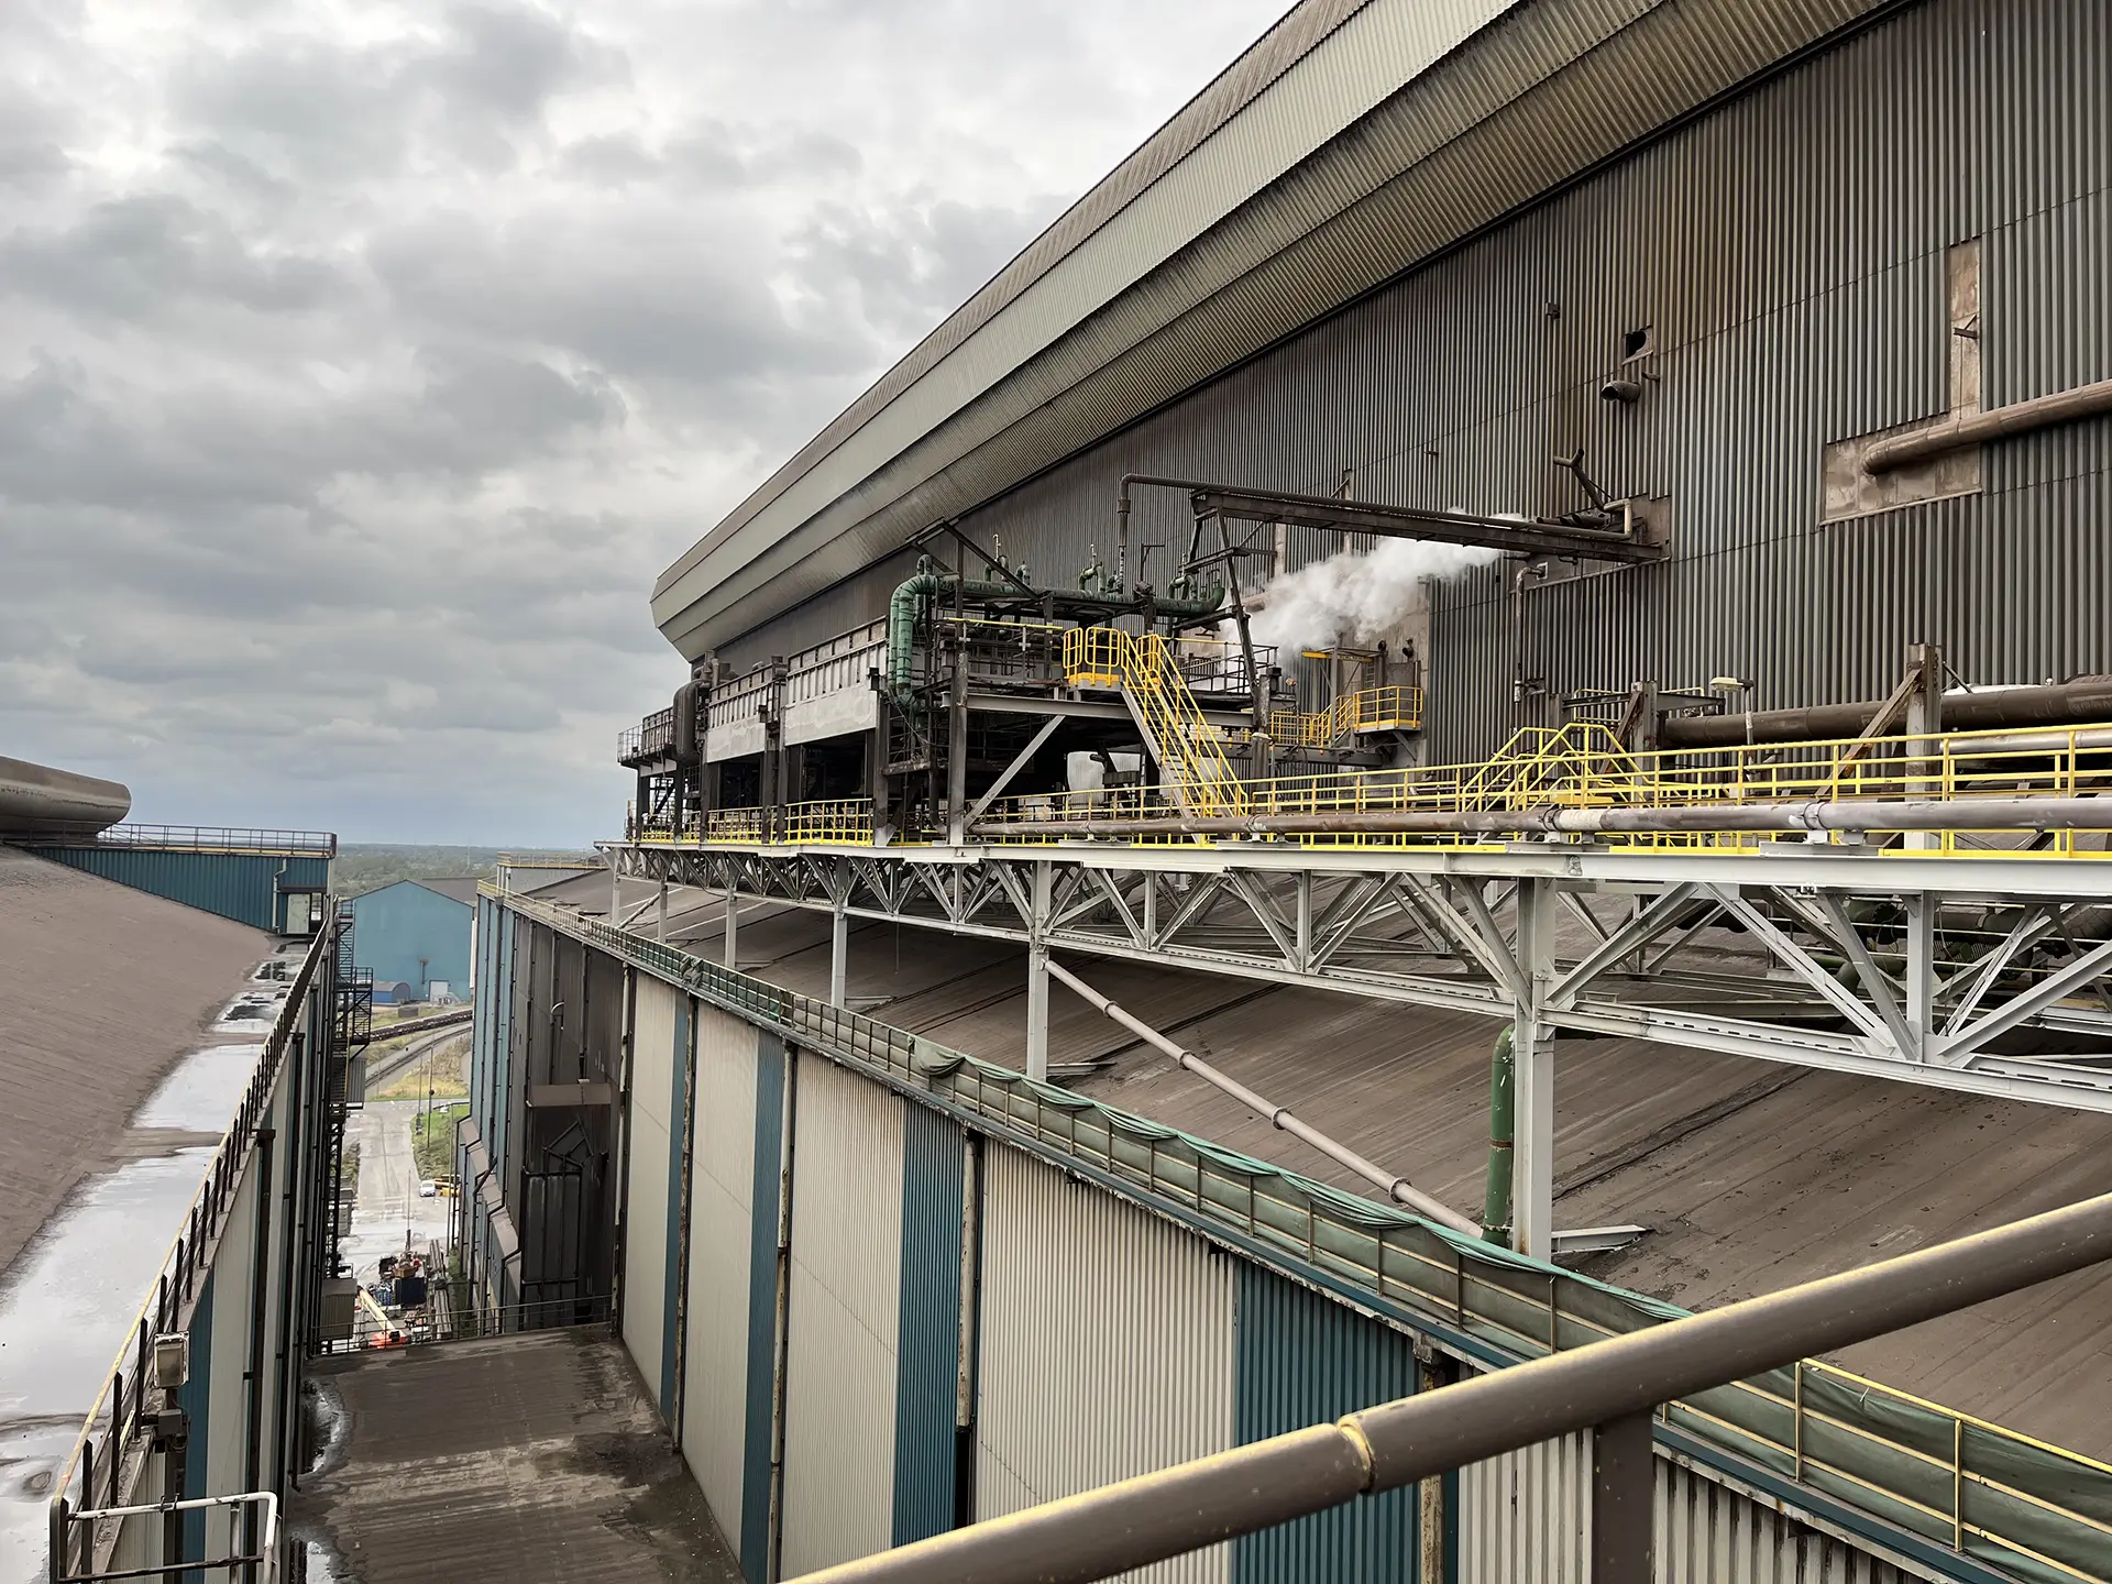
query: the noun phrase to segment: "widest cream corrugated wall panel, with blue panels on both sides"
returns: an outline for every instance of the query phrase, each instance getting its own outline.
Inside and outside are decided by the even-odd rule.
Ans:
[[[976,1516],[1233,1445],[1233,1261],[1016,1149],[986,1155]],[[1223,1584],[1229,1546],[1124,1578]]]

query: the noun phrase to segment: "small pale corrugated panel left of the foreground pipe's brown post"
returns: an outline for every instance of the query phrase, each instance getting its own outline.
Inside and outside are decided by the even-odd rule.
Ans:
[[[1459,1470],[1459,1584],[1590,1584],[1590,1432]]]

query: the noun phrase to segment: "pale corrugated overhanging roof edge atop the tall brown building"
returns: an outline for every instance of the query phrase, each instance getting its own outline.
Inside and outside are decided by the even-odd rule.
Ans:
[[[1884,2],[1307,0],[1208,112],[1170,122],[678,560],[655,621],[705,653]],[[1373,70],[1390,74],[1377,99]]]

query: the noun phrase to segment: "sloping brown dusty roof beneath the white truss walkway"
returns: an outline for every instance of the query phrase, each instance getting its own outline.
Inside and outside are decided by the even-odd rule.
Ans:
[[[625,887],[625,910],[644,898]],[[587,906],[608,906],[606,881]],[[670,940],[712,961],[722,959],[722,919],[716,895],[670,895]],[[746,902],[735,946],[743,972],[828,995],[826,914]],[[1478,1214],[1497,1024],[1113,959],[1069,965],[1269,1100]],[[1024,1060],[1024,955],[1005,942],[853,925],[849,997],[955,1050]],[[1366,1191],[1060,984],[1050,1062],[1096,1064],[1067,1075],[1081,1094]],[[1637,1039],[1557,1043],[1554,1151],[1557,1227],[1649,1227],[1578,1269],[1692,1309],[2112,1191],[2112,1117]],[[2112,1457],[2112,1269],[1850,1347],[1835,1362]]]

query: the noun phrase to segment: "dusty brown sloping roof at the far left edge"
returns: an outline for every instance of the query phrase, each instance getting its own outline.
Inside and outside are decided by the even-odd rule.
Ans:
[[[0,1271],[125,1157],[154,1081],[215,1039],[270,936],[0,847]],[[167,1140],[161,1140],[167,1147]]]

